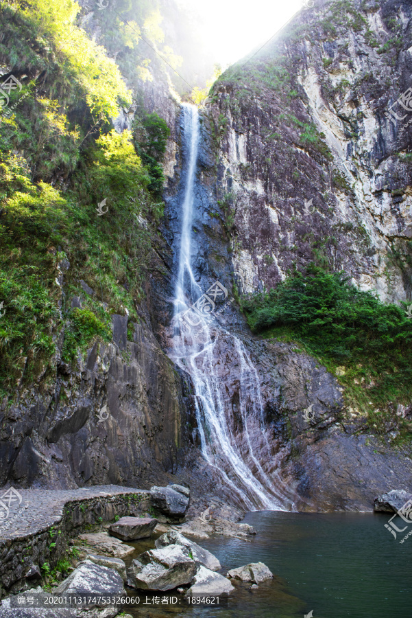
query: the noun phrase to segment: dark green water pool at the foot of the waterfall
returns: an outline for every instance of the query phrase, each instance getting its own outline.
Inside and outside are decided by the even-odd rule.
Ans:
[[[313,610],[313,618],[412,618],[412,537],[400,545],[384,527],[388,519],[249,513],[245,522],[258,530],[252,540],[220,537],[199,545],[226,570],[265,562],[273,582],[256,591],[244,585],[229,597],[228,608],[139,608],[134,616],[304,618]]]

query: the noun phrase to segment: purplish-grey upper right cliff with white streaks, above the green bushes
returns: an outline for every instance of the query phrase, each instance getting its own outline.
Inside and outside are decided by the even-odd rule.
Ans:
[[[410,93],[396,103],[411,45],[408,2],[319,1],[215,84],[208,115],[242,293],[314,261],[385,301],[411,299]]]

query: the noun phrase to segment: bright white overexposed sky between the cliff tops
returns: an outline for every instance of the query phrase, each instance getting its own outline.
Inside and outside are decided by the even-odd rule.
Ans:
[[[302,8],[302,0],[178,0],[201,16],[223,67],[263,45]]]

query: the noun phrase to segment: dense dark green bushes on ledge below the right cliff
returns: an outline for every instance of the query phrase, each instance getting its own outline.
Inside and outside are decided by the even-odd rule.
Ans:
[[[412,396],[412,323],[404,310],[362,292],[343,273],[309,266],[276,290],[248,297],[243,310],[254,332],[300,341],[326,367],[346,365],[348,393],[372,407],[407,403]],[[354,376],[368,385],[354,391]]]

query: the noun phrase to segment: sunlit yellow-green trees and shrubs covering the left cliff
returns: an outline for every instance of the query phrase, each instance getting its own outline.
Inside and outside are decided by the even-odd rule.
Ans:
[[[10,95],[16,107],[0,119],[1,397],[49,377],[63,326],[63,356],[74,361],[96,339],[108,340],[110,313],[128,308],[137,319],[163,203],[154,196],[160,163],[156,170],[145,165],[130,132],[108,132],[108,118],[128,104],[128,93],[114,62],[75,25],[78,5],[10,0],[0,10],[0,62],[23,82],[22,93]],[[121,36],[133,44],[131,32]],[[39,75],[40,82],[32,78]],[[159,157],[167,126],[153,116],[146,124],[148,156]],[[108,212],[99,217],[104,198]],[[98,292],[82,310],[62,296],[63,258],[71,264],[68,298],[82,295],[80,279]]]

